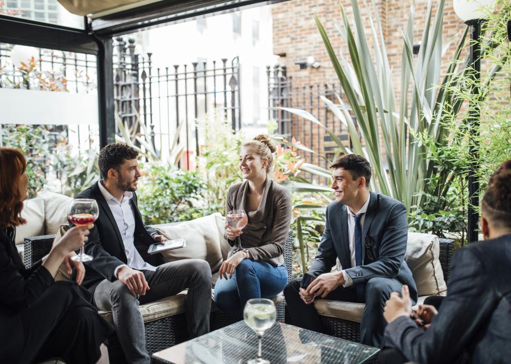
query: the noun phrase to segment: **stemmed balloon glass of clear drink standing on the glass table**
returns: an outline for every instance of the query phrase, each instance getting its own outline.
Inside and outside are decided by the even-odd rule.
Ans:
[[[267,298],[252,298],[243,309],[245,324],[255,331],[259,340],[257,358],[247,361],[247,364],[270,364],[261,356],[261,339],[266,330],[273,326],[276,318],[275,304]]]

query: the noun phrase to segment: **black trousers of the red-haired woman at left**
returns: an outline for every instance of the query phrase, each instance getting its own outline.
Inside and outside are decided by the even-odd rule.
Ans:
[[[51,358],[94,364],[100,345],[113,327],[88,302],[90,293],[74,282],[55,282],[31,307],[21,312],[24,349],[20,364]]]

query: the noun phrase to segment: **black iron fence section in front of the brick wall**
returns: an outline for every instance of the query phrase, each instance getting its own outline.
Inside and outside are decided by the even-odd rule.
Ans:
[[[330,111],[320,96],[337,103],[337,95],[341,96],[341,87],[337,83],[309,84],[295,82],[291,76],[287,76],[287,69],[284,65],[267,66],[268,76],[268,118],[274,119],[277,123],[277,131],[288,139],[295,138],[306,147],[322,154],[331,160],[338,147],[332,137],[317,124],[311,123],[295,114],[275,109],[276,107],[289,107],[302,109],[310,112],[326,128],[334,132],[346,147],[350,145],[350,138],[347,130],[340,120]],[[314,163],[328,167],[328,161],[318,154],[300,152],[300,155],[308,163]],[[312,179],[312,176],[305,174],[305,178]]]

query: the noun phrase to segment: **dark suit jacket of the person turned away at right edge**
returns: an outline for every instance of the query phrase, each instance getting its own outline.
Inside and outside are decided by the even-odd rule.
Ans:
[[[511,234],[461,248],[430,328],[401,317],[387,325],[387,343],[421,364],[450,363],[463,350],[472,363],[511,362],[510,267]]]

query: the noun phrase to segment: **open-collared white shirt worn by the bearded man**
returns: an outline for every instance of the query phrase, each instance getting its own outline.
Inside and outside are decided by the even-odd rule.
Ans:
[[[147,263],[142,259],[142,256],[135,248],[134,236],[135,236],[135,213],[130,204],[130,200],[133,198],[133,192],[125,191],[121,201],[113,197],[103,186],[103,180],[98,183],[99,189],[105,198],[108,207],[117,223],[121,238],[123,239],[124,252],[128,259],[128,266],[136,270],[148,270],[156,271],[156,267]],[[114,276],[117,277],[117,271],[126,264],[121,264],[115,268]]]

